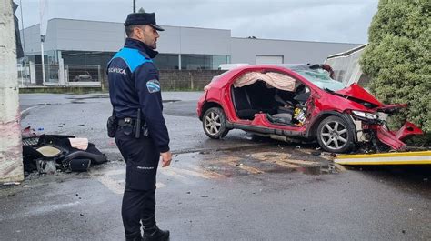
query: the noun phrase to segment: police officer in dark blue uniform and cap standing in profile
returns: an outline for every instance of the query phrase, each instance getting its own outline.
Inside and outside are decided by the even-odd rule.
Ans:
[[[169,166],[169,136],[162,115],[158,70],[152,59],[158,31],[154,13],[135,13],[125,20],[125,47],[107,66],[114,109],[115,143],[126,163],[122,216],[126,240],[168,240],[155,225],[155,174],[160,156]],[[141,224],[144,236],[141,236]]]

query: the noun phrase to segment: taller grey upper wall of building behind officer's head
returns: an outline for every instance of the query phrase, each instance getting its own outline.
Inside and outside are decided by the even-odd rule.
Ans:
[[[166,54],[229,55],[230,30],[163,26],[157,50]],[[39,25],[25,28],[27,54],[40,52]],[[122,23],[51,19],[45,50],[116,52],[125,43]],[[28,44],[27,44],[28,43]],[[28,46],[27,46],[28,45]]]

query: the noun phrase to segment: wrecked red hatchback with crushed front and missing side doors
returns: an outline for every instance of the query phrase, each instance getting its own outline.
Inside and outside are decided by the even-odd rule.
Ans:
[[[399,150],[407,136],[422,134],[406,122],[390,131],[386,117],[406,105],[383,105],[364,88],[334,80],[329,65],[248,65],[205,86],[197,115],[206,136],[242,129],[279,140],[317,141],[328,152],[359,144]],[[364,145],[365,144],[365,145]]]

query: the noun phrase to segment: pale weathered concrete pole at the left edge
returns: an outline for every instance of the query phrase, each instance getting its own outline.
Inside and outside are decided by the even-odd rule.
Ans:
[[[0,0],[0,183],[24,180],[14,14]]]

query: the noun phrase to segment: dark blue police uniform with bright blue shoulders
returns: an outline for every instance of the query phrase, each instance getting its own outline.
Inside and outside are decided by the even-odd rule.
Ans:
[[[115,143],[126,163],[122,216],[126,238],[141,235],[143,224],[155,223],[155,174],[160,153],[169,151],[169,136],[162,115],[158,70],[152,58],[157,52],[144,43],[127,38],[125,47],[107,66],[109,95],[116,119],[137,117],[141,109],[149,135],[135,134],[119,126]]]

